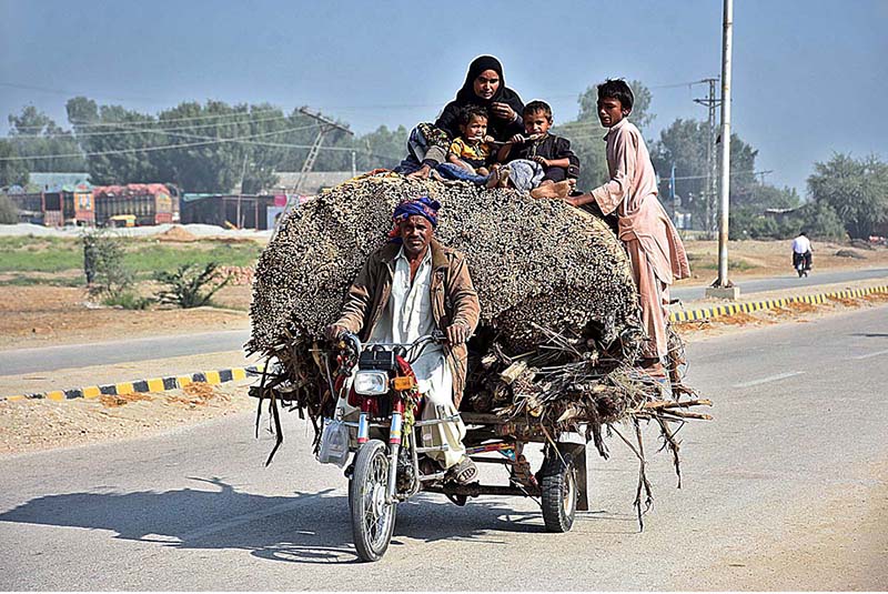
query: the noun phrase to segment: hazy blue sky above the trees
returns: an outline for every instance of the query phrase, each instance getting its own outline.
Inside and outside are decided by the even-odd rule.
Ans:
[[[805,193],[834,151],[888,159],[888,1],[736,0],[733,131],[766,180]],[[573,119],[608,77],[653,91],[656,120],[705,120],[718,77],[722,2],[0,0],[0,131],[34,104],[157,112],[183,100],[307,104],[359,132],[433,119],[468,62],[497,56],[507,84]],[[598,130],[589,134],[599,135]],[[679,172],[680,174],[680,172]]]

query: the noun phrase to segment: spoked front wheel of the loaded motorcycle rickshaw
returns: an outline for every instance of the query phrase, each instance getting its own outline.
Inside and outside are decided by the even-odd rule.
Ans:
[[[386,503],[389,456],[385,444],[370,440],[361,446],[349,482],[352,535],[362,561],[379,561],[389,548],[395,528],[396,504]]]

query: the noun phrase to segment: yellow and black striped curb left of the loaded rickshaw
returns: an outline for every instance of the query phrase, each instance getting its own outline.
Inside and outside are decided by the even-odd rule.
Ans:
[[[262,366],[250,365],[248,368],[232,368],[215,371],[201,371],[188,375],[170,375],[169,377],[154,377],[151,380],[135,380],[132,382],[119,382],[104,385],[90,385],[87,387],[72,387],[71,390],[53,390],[51,392],[38,392],[36,394],[18,394],[14,396],[0,396],[0,401],[16,400],[74,400],[74,399],[97,399],[103,395],[124,396],[127,394],[145,392],[165,392],[185,387],[193,383],[221,384],[225,382],[236,382],[244,380],[248,375],[262,373]]]

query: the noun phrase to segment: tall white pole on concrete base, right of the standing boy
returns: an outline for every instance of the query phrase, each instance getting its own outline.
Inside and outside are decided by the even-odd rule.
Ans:
[[[718,279],[707,296],[737,299],[739,288],[728,280],[728,221],[730,214],[730,68],[734,37],[734,0],[724,0],[722,18],[722,185],[718,226]]]

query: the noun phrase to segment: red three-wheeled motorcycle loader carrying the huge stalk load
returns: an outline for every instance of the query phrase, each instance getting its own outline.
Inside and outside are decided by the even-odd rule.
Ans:
[[[458,484],[443,471],[427,470],[423,459],[447,446],[424,446],[422,429],[456,421],[460,414],[446,416],[438,410],[435,419],[422,420],[422,396],[411,363],[443,340],[426,335],[412,344],[362,345],[354,334],[345,334],[339,343],[335,377],[327,375],[331,392],[360,413],[356,421],[345,420],[345,409],[337,405],[333,417],[324,420],[319,460],[344,466],[354,453],[345,473],[354,544],[363,561],[382,558],[397,504],[420,492],[444,494],[461,506],[480,495],[534,497],[549,532],[569,531],[576,511],[588,509],[585,444],[555,442],[544,426],[523,420],[462,413],[467,455],[475,463],[508,466],[508,484]],[[545,444],[544,462],[535,473],[523,455],[524,446],[534,442]]]

